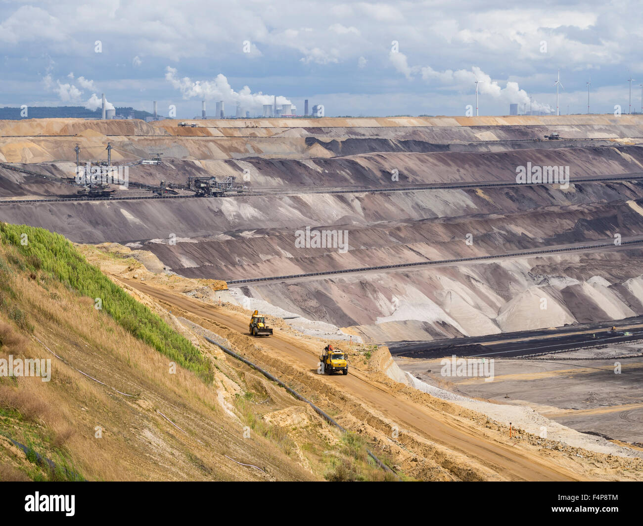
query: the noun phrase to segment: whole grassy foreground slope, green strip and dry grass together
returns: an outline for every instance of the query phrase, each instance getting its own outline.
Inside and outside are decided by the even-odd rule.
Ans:
[[[197,350],[64,238],[0,224],[0,239],[0,358],[50,358],[52,369],[48,383],[0,377],[0,480],[384,478],[363,444],[314,418],[297,430],[264,421],[305,404],[206,341]]]

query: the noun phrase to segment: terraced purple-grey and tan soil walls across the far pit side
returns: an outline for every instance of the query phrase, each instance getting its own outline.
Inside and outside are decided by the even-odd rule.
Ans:
[[[86,161],[109,141],[116,163],[161,152],[160,166],[131,167],[131,181],[154,185],[228,175],[255,190],[515,182],[516,168],[529,163],[568,167],[572,184],[3,204],[0,217],[75,242],[131,244],[168,271],[215,280],[496,255],[643,232],[639,181],[573,183],[643,173],[639,116],[196,123],[3,122],[0,161],[71,177],[75,143]],[[544,139],[554,131],[563,139]],[[5,199],[73,190],[0,168]],[[330,231],[331,246],[300,246],[307,228]],[[642,276],[640,251],[628,249],[258,284],[240,293],[352,327],[347,332],[365,340],[433,340],[643,314]]]

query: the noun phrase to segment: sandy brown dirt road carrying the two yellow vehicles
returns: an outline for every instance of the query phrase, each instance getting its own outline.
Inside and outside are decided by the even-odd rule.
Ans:
[[[145,282],[116,277],[127,285],[152,296],[168,305],[170,309],[183,310],[206,320],[225,325],[240,334],[248,334],[248,321],[240,314],[224,312],[215,305],[207,305],[199,300]],[[176,312],[175,312],[176,313]],[[260,344],[269,347],[271,352],[285,355],[290,363],[298,363],[303,370],[316,372],[318,357],[313,350],[303,349],[296,338],[278,334],[262,338]],[[532,455],[529,451],[517,449],[509,444],[501,444],[483,437],[473,426],[460,422],[448,422],[437,410],[416,403],[406,395],[394,394],[385,386],[376,386],[367,381],[359,372],[349,370],[349,376],[325,376],[327,382],[341,384],[341,389],[372,406],[390,419],[399,422],[400,427],[408,428],[418,435],[475,459],[503,480],[583,480],[583,477],[555,464]]]

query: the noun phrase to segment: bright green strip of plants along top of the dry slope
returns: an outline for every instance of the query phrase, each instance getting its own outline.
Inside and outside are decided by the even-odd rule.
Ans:
[[[177,334],[148,307],[116,286],[100,269],[87,263],[62,235],[43,228],[2,223],[0,242],[3,246],[15,247],[15,252],[6,251],[10,264],[23,271],[30,271],[32,278],[35,278],[35,273],[41,272],[48,278],[59,280],[79,295],[89,296],[93,300],[100,298],[102,311],[133,336],[176,361],[181,367],[191,370],[204,381],[212,382],[213,369],[210,361],[190,341]],[[6,305],[8,309],[14,309],[8,311],[9,316],[21,328],[30,329],[31,325],[24,313],[9,305],[11,291],[4,289],[7,280],[3,276],[8,272],[10,268],[0,260],[0,308]]]

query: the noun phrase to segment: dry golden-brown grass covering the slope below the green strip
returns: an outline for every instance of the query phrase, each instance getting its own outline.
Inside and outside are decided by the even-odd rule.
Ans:
[[[2,256],[0,248],[0,260]],[[226,413],[217,397],[217,388],[224,389],[220,370],[231,371],[238,381],[230,365],[218,364],[215,385],[178,365],[176,374],[170,374],[170,359],[95,309],[91,298],[43,271],[33,279],[29,271],[19,270],[19,257],[14,254],[12,260],[5,264],[5,269],[14,268],[5,275],[12,304],[20,307],[33,336],[64,361],[35,341],[30,327],[21,327],[0,310],[0,358],[51,359],[50,382],[0,378],[0,433],[89,480],[317,478],[271,442],[276,437],[242,437],[244,424]],[[210,345],[201,341],[201,349],[207,352]],[[101,438],[96,438],[97,427]],[[0,459],[6,457],[4,443]],[[269,475],[231,462],[226,454],[261,464]],[[17,480],[21,473],[40,478],[42,470],[21,457],[21,452],[8,457],[13,460],[5,462],[0,478]]]

